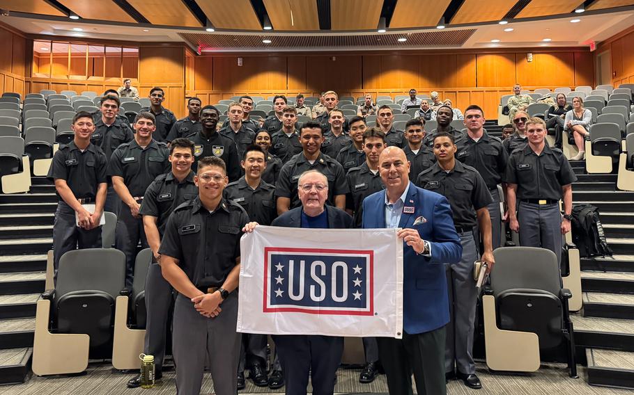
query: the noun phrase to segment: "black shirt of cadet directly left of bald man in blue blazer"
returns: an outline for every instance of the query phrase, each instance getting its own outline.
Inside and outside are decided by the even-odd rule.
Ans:
[[[363,219],[363,200],[375,192],[385,188],[380,172],[371,172],[365,162],[357,168],[351,168],[346,175],[350,192],[346,194],[346,209],[352,210],[355,227],[360,228]]]

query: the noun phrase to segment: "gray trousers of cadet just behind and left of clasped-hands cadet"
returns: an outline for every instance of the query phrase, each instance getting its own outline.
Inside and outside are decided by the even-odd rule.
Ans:
[[[148,268],[145,291],[147,318],[144,353],[154,355],[156,370],[160,371],[165,357],[167,319],[173,296],[171,285],[163,278],[161,266],[154,263],[154,258]]]

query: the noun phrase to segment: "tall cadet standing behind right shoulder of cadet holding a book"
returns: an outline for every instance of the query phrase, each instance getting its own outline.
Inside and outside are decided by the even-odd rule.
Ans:
[[[500,232],[502,228],[502,216],[500,213],[500,193],[497,192],[497,184],[502,182],[502,175],[507,168],[509,155],[502,146],[502,140],[490,136],[484,129],[484,111],[479,106],[472,104],[465,110],[465,126],[467,136],[456,140],[458,146],[458,161],[478,170],[488,191],[493,198],[493,203],[488,205],[491,217],[491,232],[493,236],[493,249],[500,247]],[[506,185],[502,184],[505,188]]]

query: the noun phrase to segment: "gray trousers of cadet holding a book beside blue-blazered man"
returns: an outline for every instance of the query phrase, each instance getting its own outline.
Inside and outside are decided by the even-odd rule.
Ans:
[[[473,262],[478,259],[477,245],[472,232],[459,234],[463,256],[457,264],[446,264],[447,289],[449,291],[449,323],[447,345],[444,350],[444,369],[475,373],[473,362],[473,332],[476,314],[477,291],[473,279]]]

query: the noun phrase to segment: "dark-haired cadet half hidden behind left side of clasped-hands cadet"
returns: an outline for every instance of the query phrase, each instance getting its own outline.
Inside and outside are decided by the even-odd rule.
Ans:
[[[167,320],[169,308],[173,303],[172,288],[161,274],[161,266],[157,264],[161,237],[167,224],[167,218],[176,207],[198,195],[194,184],[194,144],[187,138],[175,138],[169,145],[169,162],[171,172],[162,174],[148,186],[141,203],[139,213],[143,216],[143,225],[152,249],[154,260],[146,277],[146,336],[143,352],[154,355],[155,378],[163,376],[163,359],[165,356],[165,339],[167,336]],[[130,388],[141,385],[141,375],[127,382]]]

